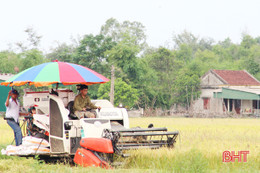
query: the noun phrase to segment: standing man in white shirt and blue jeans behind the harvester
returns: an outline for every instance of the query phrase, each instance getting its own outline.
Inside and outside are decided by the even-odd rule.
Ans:
[[[17,90],[10,90],[5,102],[7,124],[13,129],[15,144],[19,146],[22,144],[22,131],[19,125],[19,108],[20,103],[18,101],[19,93]]]

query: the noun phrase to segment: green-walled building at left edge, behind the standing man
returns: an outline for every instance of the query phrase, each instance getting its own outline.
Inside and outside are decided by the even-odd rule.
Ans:
[[[13,74],[10,73],[0,73],[0,83],[4,82],[5,80],[13,77]],[[10,91],[11,87],[6,87],[3,85],[0,85],[0,112],[5,112],[5,101],[6,97],[8,95],[8,92]]]

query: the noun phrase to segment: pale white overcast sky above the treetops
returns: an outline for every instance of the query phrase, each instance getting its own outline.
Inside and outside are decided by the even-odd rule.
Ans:
[[[26,41],[32,27],[42,36],[40,48],[50,51],[71,38],[98,34],[113,17],[141,22],[147,43],[171,46],[184,30],[216,42],[241,34],[260,36],[259,0],[0,0],[0,51]]]

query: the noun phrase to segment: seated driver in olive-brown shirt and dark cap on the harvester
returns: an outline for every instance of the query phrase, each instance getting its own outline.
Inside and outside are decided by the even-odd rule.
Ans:
[[[87,85],[79,85],[79,94],[75,97],[73,110],[75,115],[81,118],[95,118],[95,114],[88,111],[89,109],[101,109],[91,103],[88,93]]]

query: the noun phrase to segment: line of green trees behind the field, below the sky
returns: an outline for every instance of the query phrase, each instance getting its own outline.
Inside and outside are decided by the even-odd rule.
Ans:
[[[188,31],[174,35],[173,47],[151,47],[140,22],[108,19],[97,35],[86,34],[72,44],[62,43],[44,53],[41,36],[25,30],[27,42],[17,51],[0,52],[0,71],[16,73],[55,59],[86,66],[110,78],[115,67],[115,106],[170,109],[188,107],[200,95],[200,77],[210,69],[247,70],[260,79],[260,37],[242,33],[241,42],[215,42]],[[90,87],[93,99],[109,99],[110,82]]]

